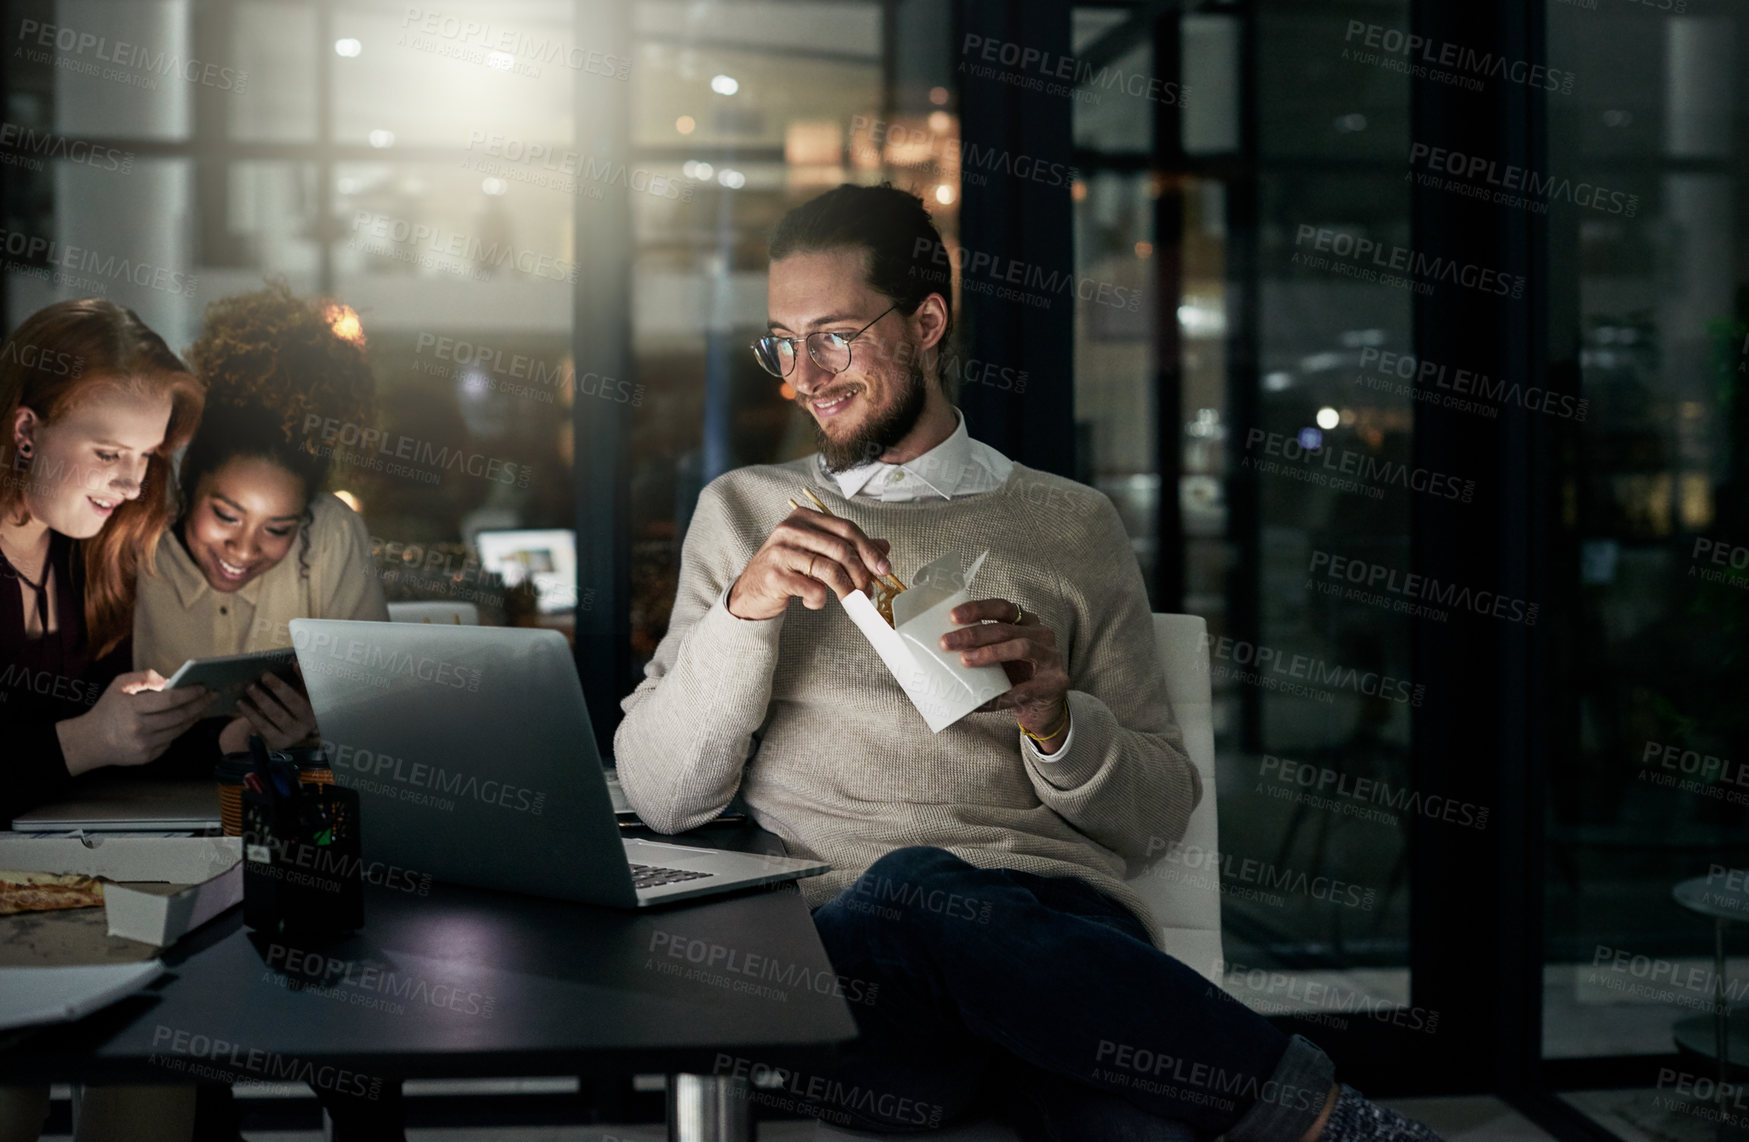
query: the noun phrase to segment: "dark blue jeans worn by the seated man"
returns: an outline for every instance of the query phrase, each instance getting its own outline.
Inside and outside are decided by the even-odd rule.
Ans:
[[[1308,1039],[1156,950],[1074,878],[899,848],[813,922],[861,1039],[791,1105],[834,1125],[993,1112],[1027,1139],[1282,1142],[1334,1081]]]

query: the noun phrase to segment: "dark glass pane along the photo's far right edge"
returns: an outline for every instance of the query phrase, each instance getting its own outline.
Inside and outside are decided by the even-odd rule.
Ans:
[[[1609,82],[1551,100],[1543,171],[1576,283],[1548,332],[1579,371],[1579,400],[1541,409],[1574,441],[1560,470],[1576,553],[1548,783],[1543,1053],[1665,1056],[1674,1042],[1667,1084],[1571,1098],[1618,1133],[1700,1137],[1719,1109],[1742,1121],[1711,1105],[1712,1002],[1749,986],[1732,911],[1749,866],[1735,666],[1749,630],[1746,17],[1551,3],[1548,24],[1551,59]]]

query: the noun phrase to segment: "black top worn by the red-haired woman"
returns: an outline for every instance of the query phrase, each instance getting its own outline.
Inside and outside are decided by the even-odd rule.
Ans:
[[[133,637],[93,661],[86,631],[86,568],[79,544],[49,532],[49,565],[42,582],[54,579],[54,633],[24,637],[24,591],[19,572],[0,553],[0,822],[47,801],[70,796],[56,722],[79,717],[96,705],[115,675],[133,668]],[[31,607],[37,605],[31,591]],[[194,776],[219,757],[224,719],[206,719],[182,735],[149,773]]]

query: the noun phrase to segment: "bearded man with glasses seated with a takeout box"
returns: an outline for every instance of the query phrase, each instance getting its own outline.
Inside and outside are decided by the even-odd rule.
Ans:
[[[1432,1139],[1154,943],[1123,880],[1202,787],[1140,568],[1100,493],[967,435],[939,371],[950,292],[913,194],[843,185],[778,222],[752,348],[819,453],[700,495],[614,740],[652,827],[701,825],[738,790],[833,866],[799,887],[861,1039],[785,1098],[862,1130],[995,1109],[1067,1139]],[[792,507],[805,488],[829,512]],[[1014,686],[932,735],[833,602],[946,551],[990,553],[990,596],[955,609],[943,649]]]

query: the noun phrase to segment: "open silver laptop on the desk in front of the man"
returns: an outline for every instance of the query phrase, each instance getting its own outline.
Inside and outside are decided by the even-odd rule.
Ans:
[[[413,876],[649,908],[827,864],[623,838],[570,644],[551,630],[292,619],[364,859]]]

